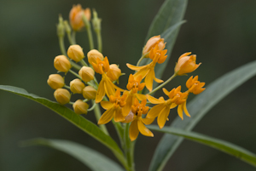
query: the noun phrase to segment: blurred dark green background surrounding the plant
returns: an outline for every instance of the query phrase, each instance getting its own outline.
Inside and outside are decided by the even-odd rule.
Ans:
[[[58,14],[67,20],[73,4],[81,3],[84,8],[95,8],[102,18],[103,54],[108,56],[111,63],[119,64],[126,73],[120,78],[119,85],[125,88],[126,79],[131,73],[125,63],[136,64],[140,58],[148,26],[163,2],[0,0],[0,84],[25,88],[29,93],[54,100],[54,90],[49,88],[46,81],[49,74],[55,73],[55,56],[61,54],[55,34]],[[179,55],[188,51],[197,54],[197,62],[202,63],[193,75],[198,74],[199,79],[207,84],[255,60],[255,7],[254,0],[189,1],[184,17],[187,23],[179,32],[163,79],[171,76]],[[80,32],[77,36],[84,53],[88,52],[86,32]],[[188,78],[177,77],[166,88],[180,84],[184,86]],[[1,171],[90,170],[60,151],[44,146],[19,147],[20,141],[37,137],[73,140],[113,158],[105,146],[43,105],[3,91],[0,92],[0,100]],[[194,131],[228,140],[256,153],[255,102],[256,80],[253,77],[213,107]],[[96,122],[92,113],[86,117]],[[175,117],[177,112],[173,110],[167,124]],[[107,126],[117,140],[112,124],[108,123]],[[161,136],[160,133],[154,133],[154,138],[139,136],[135,149],[137,170],[148,169]],[[223,152],[184,140],[165,170],[250,171],[255,168]]]

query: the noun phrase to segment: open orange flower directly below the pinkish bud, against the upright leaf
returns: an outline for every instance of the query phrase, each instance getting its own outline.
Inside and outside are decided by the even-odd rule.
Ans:
[[[153,60],[150,64],[146,66],[132,66],[131,64],[126,64],[131,70],[137,71],[137,73],[134,74],[135,79],[139,77],[140,75],[144,78],[145,77],[145,83],[148,90],[151,92],[153,89],[153,82],[162,83],[163,80],[160,80],[155,77],[154,75],[154,66],[156,63],[163,63],[166,60],[166,53],[167,50],[159,50],[158,45],[155,46],[155,48],[152,48],[149,53],[149,58]]]

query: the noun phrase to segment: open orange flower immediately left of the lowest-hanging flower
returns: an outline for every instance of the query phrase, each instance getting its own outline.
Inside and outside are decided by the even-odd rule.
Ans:
[[[106,124],[109,121],[114,120],[114,122],[120,122],[125,120],[125,116],[123,116],[122,107],[125,106],[127,95],[123,94],[120,96],[120,91],[116,90],[114,96],[111,95],[109,97],[109,101],[102,101],[101,105],[105,111],[102,114],[102,117],[99,119],[98,124]]]

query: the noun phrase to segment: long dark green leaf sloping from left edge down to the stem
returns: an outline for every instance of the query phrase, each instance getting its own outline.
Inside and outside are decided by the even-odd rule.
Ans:
[[[61,117],[64,117],[65,119],[67,119],[67,121],[73,123],[75,126],[82,129],[85,133],[90,134],[90,136],[100,141],[103,145],[106,145],[111,151],[113,151],[113,154],[119,159],[119,162],[121,162],[125,166],[125,157],[123,156],[123,153],[120,150],[119,146],[110,136],[104,134],[102,130],[96,126],[96,124],[91,123],[84,117],[79,116],[74,111],[72,111],[64,105],[60,105],[56,102],[39,97],[35,94],[29,94],[23,88],[15,88],[13,86],[0,85],[0,89],[21,95],[30,100],[37,101],[41,105],[44,105],[48,107],[50,110],[55,111]]]

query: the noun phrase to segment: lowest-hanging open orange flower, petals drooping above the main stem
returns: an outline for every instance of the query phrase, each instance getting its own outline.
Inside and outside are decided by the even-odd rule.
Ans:
[[[137,139],[139,132],[145,136],[154,137],[154,134],[145,127],[143,114],[148,113],[149,107],[146,106],[147,100],[143,100],[140,104],[137,99],[134,100],[134,104],[131,106],[131,111],[134,114],[133,121],[129,128],[129,136],[131,141]]]

